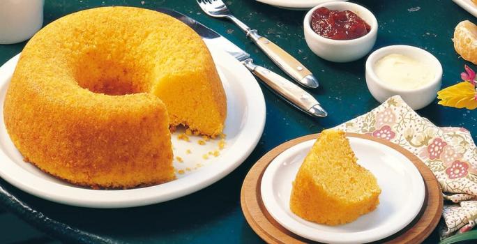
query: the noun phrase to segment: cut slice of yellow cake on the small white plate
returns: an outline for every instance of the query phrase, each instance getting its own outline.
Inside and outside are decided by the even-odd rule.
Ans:
[[[380,193],[376,178],[356,163],[345,132],[324,130],[296,174],[290,208],[308,221],[345,224],[373,211]]]

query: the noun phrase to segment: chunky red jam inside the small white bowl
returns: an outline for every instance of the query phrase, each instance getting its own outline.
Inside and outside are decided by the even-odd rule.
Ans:
[[[312,14],[311,27],[315,33],[333,40],[351,40],[365,36],[371,26],[349,10],[317,8]]]

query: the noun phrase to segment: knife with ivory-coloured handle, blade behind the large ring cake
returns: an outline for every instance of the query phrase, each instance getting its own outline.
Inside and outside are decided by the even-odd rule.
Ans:
[[[284,98],[291,105],[294,105],[294,107],[297,107],[303,112],[315,117],[324,117],[328,115],[328,113],[326,113],[319,102],[313,98],[310,93],[301,89],[300,86],[290,82],[288,79],[273,73],[271,70],[268,70],[262,66],[257,66],[255,63],[253,63],[253,60],[250,59],[250,54],[237,47],[234,43],[227,40],[227,38],[220,36],[219,33],[174,10],[169,10],[166,8],[158,8],[156,10],[170,15],[190,26],[190,28],[194,29],[199,36],[202,37],[202,40],[204,40],[209,47],[218,47],[228,54],[234,56],[234,58],[243,63],[243,65],[248,68],[252,74],[259,77],[268,86],[268,88],[271,89],[271,91],[278,93],[281,98]]]

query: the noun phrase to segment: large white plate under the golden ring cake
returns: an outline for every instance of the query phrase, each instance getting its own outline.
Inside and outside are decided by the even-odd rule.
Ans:
[[[130,190],[91,190],[60,181],[33,165],[24,162],[3,123],[3,100],[13,75],[17,55],[0,67],[0,176],[17,188],[32,195],[61,204],[92,208],[125,208],[156,204],[176,199],[201,190],[226,176],[250,155],[262,136],[265,124],[265,101],[255,77],[223,52],[213,51],[225,93],[227,94],[227,120],[224,133],[225,148],[218,150],[219,139],[199,145],[201,137],[190,137],[190,142],[177,139],[183,133],[172,135],[177,179],[146,188]],[[190,150],[190,151],[188,151]],[[215,157],[209,152],[219,151]],[[208,155],[208,159],[204,156]]]

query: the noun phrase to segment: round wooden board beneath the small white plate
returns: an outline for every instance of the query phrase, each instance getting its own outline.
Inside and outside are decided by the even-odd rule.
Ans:
[[[406,158],[411,160],[414,165],[416,165],[416,168],[421,173],[421,176],[423,176],[425,185],[425,199],[423,208],[421,209],[421,212],[418,213],[416,218],[414,218],[414,220],[407,225],[407,227],[398,233],[389,236],[388,238],[380,240],[379,243],[421,243],[424,241],[424,239],[431,234],[431,232],[439,223],[442,207],[444,204],[441,186],[439,185],[439,182],[435,178],[434,174],[432,174],[432,171],[430,171],[424,162],[417,158],[416,155],[410,153],[401,146],[383,139],[370,137],[368,135],[356,133],[347,133],[346,135],[347,137],[369,139],[371,141],[379,142],[380,144],[389,146],[402,153],[404,156],[406,156]],[[245,181],[243,181],[241,190],[241,206],[243,215],[245,215],[245,219],[255,233],[257,233],[267,243],[316,243],[285,229],[285,227],[282,227],[271,217],[271,215],[266,211],[262,201],[260,184],[262,182],[262,176],[266,167],[268,167],[268,164],[270,164],[275,157],[288,148],[310,139],[316,139],[317,136],[318,134],[298,137],[273,148],[255,163],[245,177]]]

